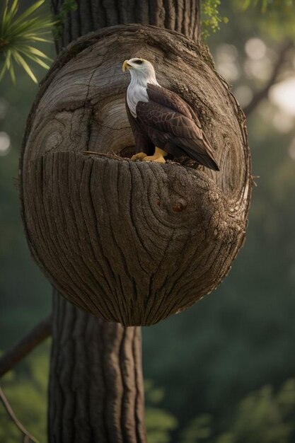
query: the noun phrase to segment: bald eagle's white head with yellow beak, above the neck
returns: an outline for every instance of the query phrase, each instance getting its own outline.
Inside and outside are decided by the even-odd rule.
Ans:
[[[154,67],[151,62],[146,59],[134,58],[125,60],[122,69],[124,72],[128,69],[130,72],[131,83],[141,86],[146,86],[148,83],[158,85]]]

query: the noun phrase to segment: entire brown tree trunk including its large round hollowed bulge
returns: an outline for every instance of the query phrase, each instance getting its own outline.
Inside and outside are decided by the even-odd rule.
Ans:
[[[63,4],[52,0],[54,13]],[[76,306],[125,325],[151,324],[214,289],[243,243],[250,200],[245,120],[198,45],[199,1],[77,4],[64,21],[58,50],[110,25],[140,22],[158,28],[129,25],[85,36],[62,52],[42,82],[21,161],[28,243],[46,275]],[[122,80],[118,66],[123,56],[141,51],[158,62],[163,86],[176,79],[175,92],[198,111],[221,173],[169,163],[135,165],[81,152],[119,154],[132,146],[122,100],[127,78]],[[116,191],[112,226],[105,201]],[[132,217],[123,220],[121,197],[128,192]],[[121,220],[127,230],[120,231]],[[138,220],[146,222],[140,226],[147,235],[140,236]],[[153,246],[155,230],[160,246]],[[135,258],[126,260],[122,247],[135,251]],[[155,248],[157,260],[148,260]],[[154,268],[146,270],[150,265]],[[50,442],[145,442],[139,336],[137,328],[104,323],[54,297]]]

